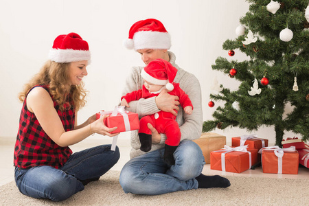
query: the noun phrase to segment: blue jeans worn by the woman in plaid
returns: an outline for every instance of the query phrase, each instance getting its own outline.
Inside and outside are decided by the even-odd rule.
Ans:
[[[56,169],[47,165],[15,168],[15,182],[22,194],[34,198],[63,201],[84,190],[81,181],[100,178],[119,159],[119,148],[102,145],[73,153],[65,165]]]

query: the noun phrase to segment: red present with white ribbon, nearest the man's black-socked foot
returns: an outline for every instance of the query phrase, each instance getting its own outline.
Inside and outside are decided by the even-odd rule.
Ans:
[[[257,149],[248,146],[225,146],[222,150],[210,152],[210,169],[240,173],[249,170],[257,159]]]

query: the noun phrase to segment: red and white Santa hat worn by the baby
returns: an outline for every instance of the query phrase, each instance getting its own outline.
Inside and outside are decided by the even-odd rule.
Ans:
[[[141,77],[151,84],[165,85],[166,89],[172,91],[176,73],[177,69],[170,62],[158,58],[144,67],[141,71]]]

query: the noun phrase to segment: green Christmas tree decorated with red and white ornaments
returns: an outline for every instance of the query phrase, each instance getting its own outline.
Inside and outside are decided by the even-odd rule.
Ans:
[[[222,100],[214,120],[203,131],[238,126],[249,131],[274,126],[276,145],[285,131],[309,139],[309,6],[308,0],[250,0],[249,12],[240,18],[238,38],[227,40],[223,49],[247,54],[249,60],[218,57],[212,69],[240,81],[237,91],[217,87],[209,106]],[[238,50],[237,50],[238,52]],[[219,82],[220,83],[220,82]],[[214,102],[213,102],[214,101]],[[293,111],[283,117],[287,103]],[[300,137],[299,137],[300,138]]]

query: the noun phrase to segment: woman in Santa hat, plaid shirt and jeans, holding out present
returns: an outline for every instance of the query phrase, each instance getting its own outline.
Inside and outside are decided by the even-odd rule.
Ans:
[[[14,149],[15,181],[19,191],[34,198],[63,201],[95,181],[117,163],[119,149],[111,145],[72,154],[70,145],[93,133],[113,137],[103,119],[92,115],[77,125],[77,111],[86,103],[82,78],[90,52],[76,33],[58,36],[43,69],[25,84],[19,133]]]

